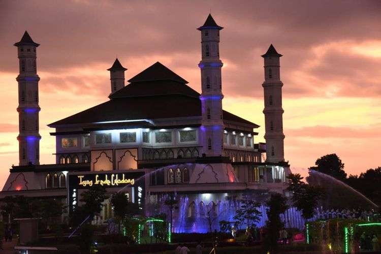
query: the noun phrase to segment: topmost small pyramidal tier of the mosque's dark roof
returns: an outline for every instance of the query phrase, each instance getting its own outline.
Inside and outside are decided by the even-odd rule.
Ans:
[[[155,62],[153,65],[137,74],[135,77],[128,80],[130,83],[143,81],[158,81],[158,80],[173,80],[182,84],[187,84],[188,81],[181,78],[179,75],[162,65],[160,62]]]

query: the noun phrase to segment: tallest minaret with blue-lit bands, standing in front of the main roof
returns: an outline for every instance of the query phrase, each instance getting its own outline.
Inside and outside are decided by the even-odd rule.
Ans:
[[[197,28],[201,31],[202,60],[201,69],[201,140],[203,153],[206,156],[220,156],[223,154],[223,111],[221,86],[221,67],[223,62],[219,59],[219,30],[223,29],[216,24],[209,14],[203,26]]]

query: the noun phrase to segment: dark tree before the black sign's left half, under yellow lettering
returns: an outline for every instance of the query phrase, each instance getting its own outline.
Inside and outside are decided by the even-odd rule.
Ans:
[[[106,187],[102,185],[92,185],[91,187],[81,194],[80,201],[83,202],[83,211],[90,215],[90,219],[95,214],[102,211],[102,202],[107,199]]]

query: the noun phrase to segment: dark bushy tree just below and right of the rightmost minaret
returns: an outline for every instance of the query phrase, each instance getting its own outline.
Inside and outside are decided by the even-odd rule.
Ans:
[[[289,179],[287,190],[293,194],[291,198],[293,206],[302,212],[305,219],[311,218],[323,197],[323,190],[303,182],[300,174],[290,174],[287,178]]]

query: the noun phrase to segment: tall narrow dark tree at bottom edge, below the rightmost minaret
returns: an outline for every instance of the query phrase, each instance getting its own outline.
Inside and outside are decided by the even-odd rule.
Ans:
[[[277,240],[279,231],[283,228],[283,223],[280,220],[279,215],[284,213],[288,209],[287,199],[279,193],[272,194],[270,199],[266,202],[267,209],[267,221],[266,221],[266,239],[265,247],[266,251],[270,253],[276,252]]]

